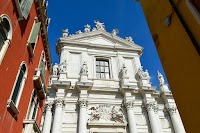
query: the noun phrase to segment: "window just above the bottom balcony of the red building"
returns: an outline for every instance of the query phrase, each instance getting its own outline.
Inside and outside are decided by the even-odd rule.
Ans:
[[[28,120],[36,119],[38,104],[39,104],[39,100],[38,100],[38,97],[36,95],[36,91],[34,90],[32,97],[31,97],[31,103],[30,103],[30,106],[29,106],[28,114],[27,114]]]

